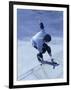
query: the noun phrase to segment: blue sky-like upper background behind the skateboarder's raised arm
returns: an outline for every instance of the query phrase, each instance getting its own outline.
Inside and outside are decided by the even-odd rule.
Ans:
[[[51,36],[63,36],[63,11],[17,9],[17,37],[30,40],[39,32],[40,22]]]

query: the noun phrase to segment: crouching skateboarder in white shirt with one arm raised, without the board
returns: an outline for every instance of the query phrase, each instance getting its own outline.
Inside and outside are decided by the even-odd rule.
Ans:
[[[51,61],[53,61],[51,48],[48,46],[48,42],[51,41],[51,36],[45,32],[44,24],[42,22],[40,23],[40,29],[41,31],[32,38],[33,47],[39,51],[37,58],[41,63],[44,62],[43,54],[47,51],[51,57]]]

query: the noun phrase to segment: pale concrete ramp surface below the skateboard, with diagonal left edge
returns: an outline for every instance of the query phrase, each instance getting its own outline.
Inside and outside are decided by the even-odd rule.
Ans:
[[[49,64],[42,64],[42,65],[39,64],[33,67],[32,69],[30,69],[29,71],[23,73],[18,78],[18,80],[40,80],[40,79],[62,78],[61,76],[62,72],[59,70],[60,66],[61,65],[56,66],[56,68],[53,69],[53,66]]]

